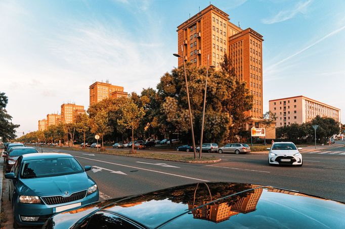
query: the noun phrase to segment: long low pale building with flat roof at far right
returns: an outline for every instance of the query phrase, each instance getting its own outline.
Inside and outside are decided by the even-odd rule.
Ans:
[[[316,116],[332,118],[340,122],[340,109],[303,95],[273,99],[269,101],[270,111],[276,115],[276,126],[302,124]]]

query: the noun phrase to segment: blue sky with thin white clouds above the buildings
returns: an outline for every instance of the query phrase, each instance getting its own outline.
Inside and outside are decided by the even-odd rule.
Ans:
[[[264,36],[264,111],[304,95],[340,108],[345,123],[343,0],[0,0],[0,91],[18,132],[64,102],[87,109],[95,81],[156,88],[178,65],[177,26],[209,3]]]

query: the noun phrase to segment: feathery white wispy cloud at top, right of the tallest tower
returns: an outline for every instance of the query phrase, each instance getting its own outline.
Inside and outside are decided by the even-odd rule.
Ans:
[[[297,3],[293,9],[280,11],[278,14],[271,18],[263,19],[262,22],[264,24],[274,24],[277,22],[283,22],[289,20],[296,16],[297,14],[305,14],[307,12],[308,6],[311,4],[312,0],[308,0],[307,2],[299,2]]]

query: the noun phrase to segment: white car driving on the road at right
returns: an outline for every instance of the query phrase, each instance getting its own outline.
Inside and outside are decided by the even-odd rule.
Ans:
[[[297,148],[292,142],[275,142],[272,148],[267,148],[270,150],[268,153],[268,163],[272,164],[290,164],[296,166],[303,165],[302,154],[298,150],[302,148]]]

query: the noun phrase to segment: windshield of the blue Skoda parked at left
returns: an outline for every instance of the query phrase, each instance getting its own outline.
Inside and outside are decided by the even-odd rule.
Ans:
[[[27,160],[23,162],[21,178],[54,177],[83,171],[80,164],[72,157]]]

